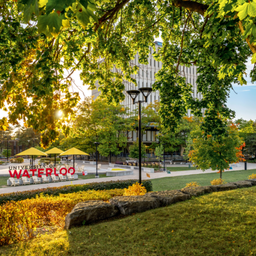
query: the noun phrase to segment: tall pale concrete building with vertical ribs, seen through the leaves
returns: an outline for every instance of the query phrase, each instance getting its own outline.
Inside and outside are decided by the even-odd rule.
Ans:
[[[156,50],[158,49],[158,47],[162,47],[162,43],[161,42],[154,42],[155,43],[155,47]],[[133,78],[136,79],[138,86],[135,86],[135,84],[130,83],[125,81],[124,85],[125,85],[125,90],[137,90],[140,87],[152,87],[152,85],[155,83],[155,75],[158,72],[159,69],[162,68],[162,62],[158,62],[156,60],[154,60],[153,58],[153,53],[155,51],[155,49],[153,49],[150,46],[149,49],[149,55],[148,55],[148,65],[142,65],[141,63],[139,63],[139,54],[137,53],[134,57],[134,59],[132,60],[131,64],[132,65],[137,65],[139,67],[139,72],[136,75],[132,75]],[[196,79],[197,79],[197,73],[196,73],[196,66],[191,66],[190,68],[187,67],[183,67],[183,66],[179,66],[179,70],[182,71],[181,75],[186,77],[186,81],[187,83],[190,83],[193,85],[194,87],[194,92],[192,93],[194,98],[199,98],[201,99],[202,95],[201,93],[197,93],[197,86],[196,86]],[[114,68],[112,70],[114,71]],[[92,90],[92,96],[94,96],[94,100],[97,99],[100,95],[100,91],[99,89],[99,83],[98,81],[95,83],[97,89]],[[137,104],[133,105],[132,103],[132,99],[131,97],[129,97],[129,95],[127,95],[124,92],[125,95],[125,99],[123,102],[121,102],[121,104],[124,107],[129,107],[131,110],[135,109],[138,107]],[[137,98],[137,100],[144,100],[143,96],[139,95],[139,99]],[[159,91],[156,92],[151,92],[149,97],[148,97],[148,102],[147,103],[142,103],[142,106],[147,106],[147,104],[149,104],[150,102],[154,102],[154,101],[161,101],[161,98],[159,97]],[[190,110],[188,110],[187,115],[190,117],[191,113]],[[142,141],[143,143],[145,143],[146,145],[150,145],[152,142],[154,141],[158,141],[156,135],[157,135],[158,131],[155,127],[151,127],[151,129],[149,129],[148,131],[146,131],[145,134],[142,135]],[[132,142],[136,141],[137,137],[138,137],[138,132],[137,131],[133,131],[133,132],[127,132],[127,137],[129,142],[127,143],[127,148],[123,150],[123,154],[127,154],[129,152],[129,146],[132,144]],[[153,151],[149,149],[147,150],[148,152],[148,156],[150,155],[154,155]],[[180,153],[183,153],[183,148],[180,148]]]

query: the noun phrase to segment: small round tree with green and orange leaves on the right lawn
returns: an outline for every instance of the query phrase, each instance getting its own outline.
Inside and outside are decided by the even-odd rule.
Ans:
[[[229,163],[244,161],[242,148],[245,146],[238,135],[237,126],[231,124],[226,127],[227,134],[218,140],[212,135],[206,135],[201,130],[191,132],[193,149],[189,152],[190,161],[197,169],[218,170],[222,179],[222,172],[229,169]]]

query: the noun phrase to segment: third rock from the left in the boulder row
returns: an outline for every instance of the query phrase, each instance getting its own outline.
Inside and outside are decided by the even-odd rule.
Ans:
[[[170,205],[173,203],[185,201],[190,198],[190,195],[182,193],[181,190],[165,190],[165,191],[147,193],[145,197],[157,198],[161,206],[165,206],[165,205]]]

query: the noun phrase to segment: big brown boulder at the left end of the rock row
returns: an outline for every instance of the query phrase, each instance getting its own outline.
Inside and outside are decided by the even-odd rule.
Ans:
[[[118,214],[115,205],[101,200],[81,202],[75,205],[73,210],[65,218],[65,229],[81,226],[84,223],[91,223],[107,219]]]

